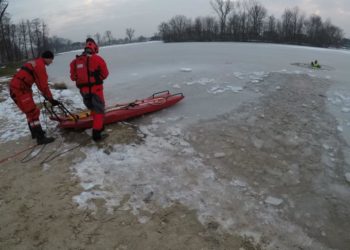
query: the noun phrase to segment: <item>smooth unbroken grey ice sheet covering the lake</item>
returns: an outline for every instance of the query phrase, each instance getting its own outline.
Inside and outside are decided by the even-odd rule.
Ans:
[[[69,63],[79,53],[58,55],[48,70],[51,80],[76,89],[69,79]],[[185,122],[213,118],[256,98],[254,93],[242,92],[242,88],[272,72],[331,79],[340,92],[349,87],[350,51],[343,50],[255,43],[149,42],[104,47],[100,55],[110,71],[104,85],[108,104],[167,89],[183,92],[186,99],[169,112],[186,116]],[[325,70],[293,65],[316,59]]]

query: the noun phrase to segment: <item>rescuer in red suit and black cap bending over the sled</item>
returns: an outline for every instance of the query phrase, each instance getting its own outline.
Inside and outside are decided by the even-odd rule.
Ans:
[[[39,116],[40,109],[35,105],[33,100],[32,85],[41,91],[46,100],[53,106],[59,104],[52,96],[48,85],[48,76],[46,67],[53,61],[54,55],[51,51],[45,51],[41,57],[25,63],[21,69],[13,76],[10,82],[10,96],[18,108],[27,116],[29,130],[32,138],[37,140],[39,145],[48,144],[55,139],[46,137],[43,131]]]

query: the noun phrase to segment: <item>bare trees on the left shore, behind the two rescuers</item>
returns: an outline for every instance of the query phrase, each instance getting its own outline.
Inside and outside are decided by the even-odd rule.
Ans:
[[[50,37],[48,25],[39,18],[13,24],[6,12],[8,5],[9,1],[0,0],[0,64],[35,58],[47,49],[59,53],[83,48],[84,41],[72,42],[70,39],[58,36]],[[123,39],[114,38],[109,30],[103,35],[97,32],[94,35],[87,34],[86,37],[94,38],[100,46],[148,40],[144,36],[135,38],[133,28],[125,30]]]

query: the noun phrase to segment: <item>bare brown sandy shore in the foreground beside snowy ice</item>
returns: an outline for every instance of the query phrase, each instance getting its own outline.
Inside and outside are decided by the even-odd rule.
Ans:
[[[66,142],[105,148],[114,143],[142,143],[134,127],[111,125],[105,142],[95,144],[86,133],[63,132]],[[22,138],[1,145],[0,159],[33,145]],[[103,200],[94,200],[97,211],[78,209],[72,197],[82,190],[71,165],[84,155],[69,151],[41,164],[48,156],[66,150],[57,139],[34,159],[23,164],[26,153],[0,164],[0,249],[260,249],[249,238],[219,233],[218,225],[203,226],[195,211],[181,204],[159,209],[149,222],[121,208],[107,213]],[[128,197],[125,197],[125,201]]]

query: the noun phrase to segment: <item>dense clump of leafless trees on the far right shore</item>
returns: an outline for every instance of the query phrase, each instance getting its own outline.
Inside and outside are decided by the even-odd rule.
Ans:
[[[285,9],[281,19],[268,15],[256,0],[211,0],[216,17],[194,20],[177,15],[159,25],[164,42],[257,41],[318,47],[344,46],[343,31],[320,16],[306,17],[298,7]]]

